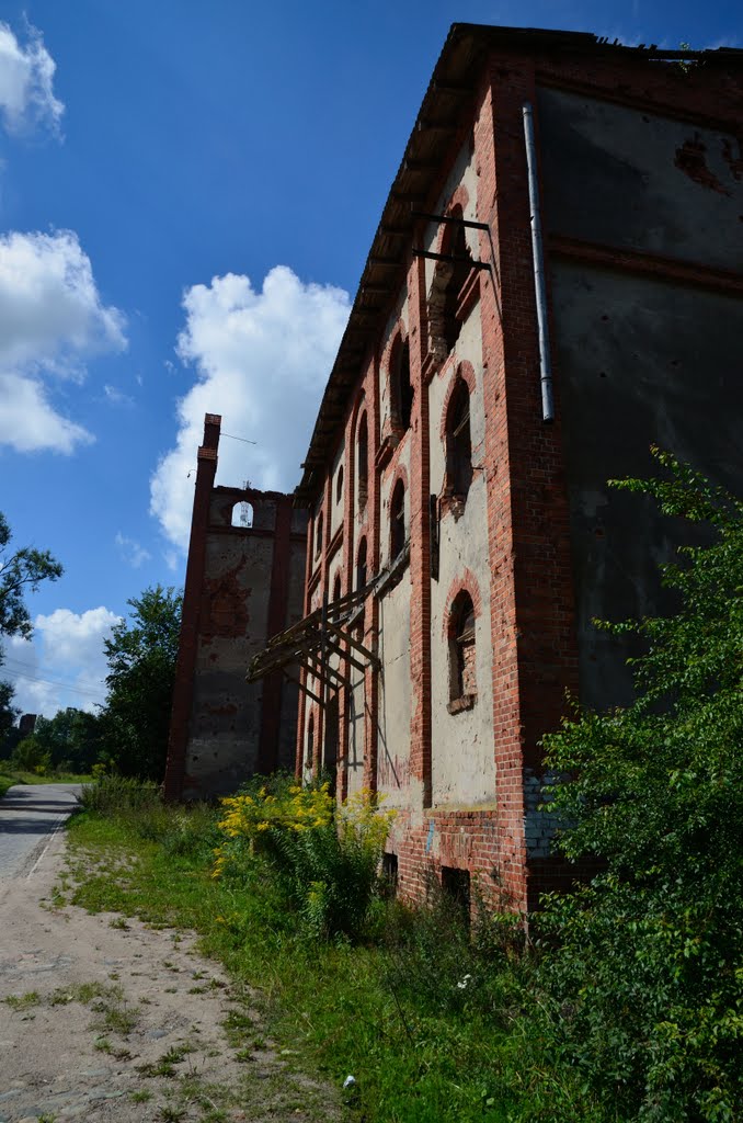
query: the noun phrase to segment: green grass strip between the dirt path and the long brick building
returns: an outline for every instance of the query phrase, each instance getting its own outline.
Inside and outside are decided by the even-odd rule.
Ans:
[[[247,1007],[230,1014],[233,1049],[247,1057],[266,1033],[290,1067],[337,1087],[352,1075],[349,1117],[367,1123],[614,1117],[581,1095],[570,1070],[552,1068],[508,938],[473,939],[451,915],[379,904],[368,939],[309,940],[267,864],[211,876],[214,824],[208,809],[83,811],[70,824],[72,902],[199,932],[203,952],[238,990],[249,986],[258,1007],[260,1026]],[[176,1063],[163,1057],[158,1075]]]

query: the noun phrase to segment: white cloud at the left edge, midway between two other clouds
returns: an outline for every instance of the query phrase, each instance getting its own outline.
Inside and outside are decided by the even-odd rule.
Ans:
[[[125,318],[98,292],[71,230],[0,237],[0,444],[71,453],[92,438],[54,404],[55,382],[126,347]]]

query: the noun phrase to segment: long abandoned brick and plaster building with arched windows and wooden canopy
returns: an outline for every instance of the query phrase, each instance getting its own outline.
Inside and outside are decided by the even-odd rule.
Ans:
[[[444,44],[295,493],[304,615],[250,672],[301,666],[297,770],[397,809],[409,895],[554,884],[540,738],[627,697],[591,620],[654,611],[670,549],[606,481],[658,442],[740,482],[742,109],[742,52]]]

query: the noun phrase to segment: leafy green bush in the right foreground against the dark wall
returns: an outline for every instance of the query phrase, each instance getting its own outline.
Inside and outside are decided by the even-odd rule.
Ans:
[[[636,701],[545,739],[568,858],[548,898],[542,977],[556,1048],[623,1120],[733,1120],[743,1104],[743,503],[668,454],[616,484],[714,528],[663,567],[679,611],[635,633]],[[697,539],[698,540],[698,539]],[[613,1116],[614,1117],[614,1116]]]

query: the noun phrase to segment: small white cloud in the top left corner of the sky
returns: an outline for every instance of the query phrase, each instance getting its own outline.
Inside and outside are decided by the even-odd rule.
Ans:
[[[54,95],[55,70],[40,31],[29,27],[24,45],[0,22],[0,116],[9,133],[38,126],[58,133],[64,104]]]

